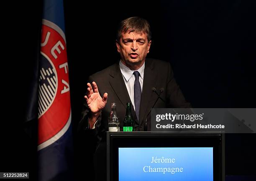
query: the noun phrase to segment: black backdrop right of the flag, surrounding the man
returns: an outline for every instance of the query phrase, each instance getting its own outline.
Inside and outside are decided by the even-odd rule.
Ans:
[[[116,27],[131,16],[152,30],[148,57],[171,63],[195,108],[255,108],[255,2],[171,0],[65,2],[74,124],[90,74],[119,60]],[[256,174],[255,134],[226,134],[227,175]]]

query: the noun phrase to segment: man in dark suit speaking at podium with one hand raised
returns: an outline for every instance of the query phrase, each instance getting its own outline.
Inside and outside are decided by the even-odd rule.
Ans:
[[[151,31],[146,20],[130,17],[120,23],[116,40],[120,61],[89,77],[87,94],[79,132],[87,136],[87,145],[94,152],[95,159],[104,169],[97,166],[97,180],[105,180],[105,131],[108,131],[108,117],[111,103],[116,103],[120,117],[120,130],[123,128],[126,103],[132,103],[135,131],[143,131],[146,116],[158,95],[152,91],[163,89],[154,108],[188,108],[179,86],[175,82],[170,64],[161,60],[146,59],[151,46]],[[150,115],[147,119],[151,130]],[[86,128],[87,127],[87,128]],[[88,139],[90,137],[90,139]],[[99,163],[97,164],[99,165]],[[102,177],[99,177],[102,176]]]

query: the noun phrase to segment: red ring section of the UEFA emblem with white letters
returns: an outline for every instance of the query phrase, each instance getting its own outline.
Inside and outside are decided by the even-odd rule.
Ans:
[[[42,25],[41,36],[41,54],[46,58],[44,60],[48,60],[55,69],[56,89],[51,104],[38,118],[38,145],[51,139],[63,129],[67,124],[71,109],[64,37],[47,25]]]

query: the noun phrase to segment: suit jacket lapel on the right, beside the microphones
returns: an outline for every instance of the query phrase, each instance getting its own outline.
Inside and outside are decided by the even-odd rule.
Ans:
[[[140,124],[144,119],[146,119],[146,115],[150,111],[151,107],[153,106],[154,102],[151,102],[152,94],[152,87],[156,87],[156,79],[157,75],[156,72],[153,71],[154,69],[154,62],[151,59],[146,60],[145,62],[145,70],[144,70],[144,79],[143,79],[143,89],[141,95],[141,106],[140,106]]]

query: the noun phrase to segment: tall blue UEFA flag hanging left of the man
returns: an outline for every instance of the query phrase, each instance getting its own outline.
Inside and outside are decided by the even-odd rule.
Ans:
[[[38,181],[72,179],[73,143],[63,0],[44,0],[38,66]]]

